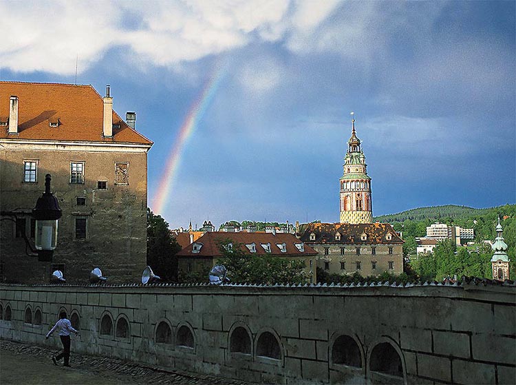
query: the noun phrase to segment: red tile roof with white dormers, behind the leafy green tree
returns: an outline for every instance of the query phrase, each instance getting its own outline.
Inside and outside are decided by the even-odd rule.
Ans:
[[[219,250],[219,244],[220,242],[224,242],[224,240],[229,240],[233,243],[240,243],[242,245],[241,249],[249,255],[282,257],[314,256],[317,254],[317,251],[307,244],[303,245],[304,251],[299,251],[295,244],[301,244],[303,242],[289,233],[247,233],[244,231],[232,233],[226,231],[208,231],[204,236],[196,241],[196,243],[202,243],[199,253],[192,253],[193,244],[189,244],[176,255],[178,257],[220,257],[222,256],[222,253]],[[245,246],[246,244],[251,244],[253,242],[256,245],[256,253],[251,253]],[[267,253],[264,247],[261,247],[262,243],[270,243],[270,253]],[[277,244],[283,243],[286,245],[285,253],[282,253],[280,248],[277,247]]]

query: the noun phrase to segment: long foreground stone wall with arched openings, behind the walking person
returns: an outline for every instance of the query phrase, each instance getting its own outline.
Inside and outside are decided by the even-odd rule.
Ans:
[[[58,347],[65,309],[72,351],[254,382],[516,378],[515,286],[3,285],[0,303],[5,339]]]

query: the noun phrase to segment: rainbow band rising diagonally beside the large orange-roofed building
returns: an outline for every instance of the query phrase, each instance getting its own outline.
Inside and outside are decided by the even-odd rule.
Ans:
[[[162,210],[166,205],[166,201],[169,198],[177,176],[186,142],[191,138],[197,124],[211,105],[211,101],[213,101],[213,97],[226,74],[225,68],[226,66],[224,65],[217,65],[217,67],[215,67],[212,76],[208,81],[206,81],[202,92],[191,105],[186,118],[184,118],[183,124],[178,132],[178,136],[175,138],[175,143],[171,149],[169,158],[166,161],[166,168],[160,180],[158,191],[152,200],[151,207],[156,214],[162,213]]]

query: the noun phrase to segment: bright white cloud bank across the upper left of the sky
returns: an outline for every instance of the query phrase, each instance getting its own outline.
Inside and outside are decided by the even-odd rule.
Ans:
[[[246,45],[310,34],[336,3],[233,1],[3,1],[2,65],[16,72],[73,74],[111,48],[129,48],[152,65],[178,67]],[[130,56],[124,56],[130,57]]]

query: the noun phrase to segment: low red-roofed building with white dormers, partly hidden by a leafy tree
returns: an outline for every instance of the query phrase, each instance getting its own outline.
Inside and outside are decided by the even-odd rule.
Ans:
[[[231,246],[241,244],[241,250],[249,256],[266,255],[302,260],[310,282],[316,282],[317,252],[289,233],[208,231],[176,254],[178,269],[186,273],[202,273],[215,266],[222,257],[219,244],[226,240]]]

